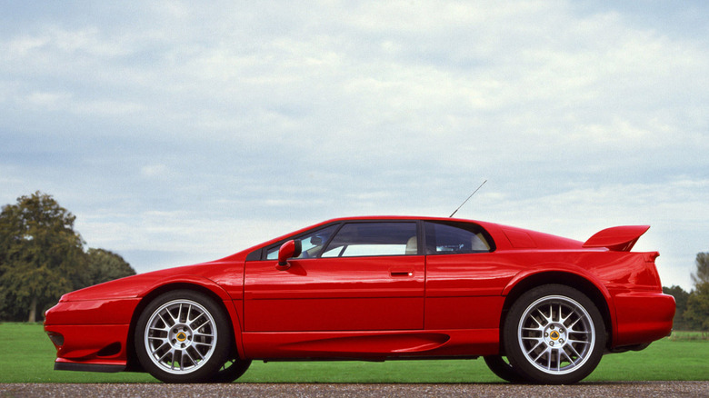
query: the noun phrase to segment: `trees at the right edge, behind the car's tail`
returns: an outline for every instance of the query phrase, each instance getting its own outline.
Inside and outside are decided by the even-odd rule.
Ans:
[[[709,331],[709,253],[696,254],[696,272],[692,274],[694,289],[684,291],[680,286],[663,287],[672,294],[677,310],[674,313],[674,330]]]

